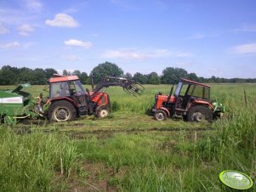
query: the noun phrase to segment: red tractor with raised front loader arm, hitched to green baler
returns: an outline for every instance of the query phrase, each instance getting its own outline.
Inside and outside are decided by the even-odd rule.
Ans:
[[[120,86],[134,96],[144,88],[134,80],[121,77],[105,77],[92,91],[84,89],[77,76],[54,75],[48,81],[48,110],[44,114],[51,121],[72,121],[78,116],[95,115],[106,117],[110,112],[110,97],[100,92],[104,88]]]

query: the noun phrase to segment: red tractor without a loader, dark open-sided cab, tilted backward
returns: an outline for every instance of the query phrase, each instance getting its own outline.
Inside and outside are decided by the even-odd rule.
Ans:
[[[217,100],[210,99],[210,86],[180,79],[174,95],[174,85],[169,95],[156,94],[156,102],[152,108],[158,121],[167,117],[181,117],[186,121],[213,121],[225,112],[225,106]]]

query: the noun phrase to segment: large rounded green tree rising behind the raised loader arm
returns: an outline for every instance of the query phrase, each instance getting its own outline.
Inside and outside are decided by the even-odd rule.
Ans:
[[[110,62],[105,62],[103,64],[97,65],[91,71],[90,76],[93,77],[94,83],[98,83],[105,76],[122,76],[123,71],[116,64]]]

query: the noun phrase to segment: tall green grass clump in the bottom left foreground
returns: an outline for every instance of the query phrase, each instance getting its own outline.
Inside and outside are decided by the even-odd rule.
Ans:
[[[51,191],[56,173],[70,176],[77,153],[63,135],[17,135],[8,127],[0,127],[0,135],[1,191]]]

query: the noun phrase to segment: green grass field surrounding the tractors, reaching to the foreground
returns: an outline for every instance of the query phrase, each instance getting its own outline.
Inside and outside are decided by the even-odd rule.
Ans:
[[[211,124],[155,121],[154,96],[169,89],[146,85],[134,98],[109,88],[105,119],[1,125],[1,191],[234,191],[219,181],[225,170],[255,181],[256,84],[213,84],[227,112]],[[254,182],[247,191],[255,190]]]

